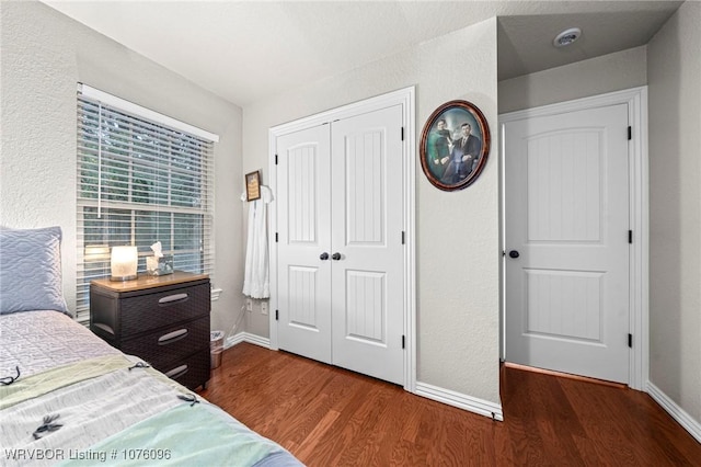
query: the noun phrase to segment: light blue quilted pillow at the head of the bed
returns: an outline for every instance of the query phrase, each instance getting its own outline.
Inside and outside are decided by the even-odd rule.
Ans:
[[[61,281],[61,229],[0,230],[0,315],[68,314]]]

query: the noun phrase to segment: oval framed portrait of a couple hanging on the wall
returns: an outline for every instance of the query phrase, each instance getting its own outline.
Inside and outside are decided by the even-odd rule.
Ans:
[[[450,101],[434,111],[421,136],[421,166],[428,181],[445,191],[472,184],[490,153],[490,128],[468,101]]]

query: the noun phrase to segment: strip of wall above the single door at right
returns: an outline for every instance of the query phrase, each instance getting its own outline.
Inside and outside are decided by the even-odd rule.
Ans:
[[[646,46],[499,81],[499,113],[645,86]]]

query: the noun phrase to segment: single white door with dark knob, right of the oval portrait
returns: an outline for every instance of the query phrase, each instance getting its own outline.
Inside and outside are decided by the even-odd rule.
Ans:
[[[625,104],[504,125],[508,362],[629,381],[627,128]]]

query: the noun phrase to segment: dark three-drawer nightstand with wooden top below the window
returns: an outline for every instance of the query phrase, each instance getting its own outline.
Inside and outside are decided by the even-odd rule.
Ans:
[[[90,283],[90,330],[189,389],[209,380],[209,310],[204,274]]]

